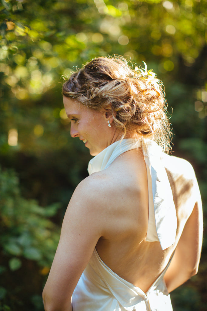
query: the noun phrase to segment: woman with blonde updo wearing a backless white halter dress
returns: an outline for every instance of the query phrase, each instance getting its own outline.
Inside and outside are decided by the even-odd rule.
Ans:
[[[64,83],[63,102],[95,157],[65,213],[45,310],[172,310],[169,292],[198,271],[202,207],[191,165],[163,152],[160,81],[100,57]]]

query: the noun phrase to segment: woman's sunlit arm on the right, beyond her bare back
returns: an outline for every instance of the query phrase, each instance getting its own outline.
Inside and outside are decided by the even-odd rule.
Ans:
[[[198,272],[203,237],[203,215],[197,181],[195,191],[198,200],[184,226],[173,259],[164,276],[169,292]]]

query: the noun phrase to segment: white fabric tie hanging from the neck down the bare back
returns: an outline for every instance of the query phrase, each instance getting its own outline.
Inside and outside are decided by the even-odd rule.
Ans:
[[[147,169],[149,219],[146,241],[160,241],[162,249],[175,242],[177,216],[168,175],[162,163],[163,151],[150,139],[142,141]],[[157,239],[158,238],[158,239]]]

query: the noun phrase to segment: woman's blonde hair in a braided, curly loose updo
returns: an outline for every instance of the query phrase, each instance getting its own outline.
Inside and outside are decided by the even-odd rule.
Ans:
[[[131,68],[121,56],[98,57],[72,73],[62,93],[95,110],[110,109],[114,126],[171,149],[171,130],[162,82],[145,68]]]

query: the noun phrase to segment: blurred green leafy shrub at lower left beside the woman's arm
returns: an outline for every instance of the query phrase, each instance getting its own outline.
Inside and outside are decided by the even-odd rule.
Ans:
[[[48,220],[58,208],[59,204],[43,208],[26,200],[13,170],[0,171],[1,310],[6,305],[24,309],[24,301],[34,309],[34,288],[41,292],[59,240],[60,230]]]

